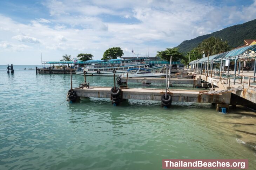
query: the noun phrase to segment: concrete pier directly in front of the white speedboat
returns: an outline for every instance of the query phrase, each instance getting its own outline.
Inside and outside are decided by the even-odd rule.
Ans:
[[[121,82],[126,82],[126,78],[121,78]],[[166,78],[128,78],[128,83],[166,83]],[[201,77],[197,79],[170,79],[171,84],[201,84]]]

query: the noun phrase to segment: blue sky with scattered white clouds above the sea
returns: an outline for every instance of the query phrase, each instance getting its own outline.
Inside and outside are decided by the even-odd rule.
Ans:
[[[154,57],[184,40],[256,17],[256,0],[0,1],[0,65],[40,65],[119,46]]]

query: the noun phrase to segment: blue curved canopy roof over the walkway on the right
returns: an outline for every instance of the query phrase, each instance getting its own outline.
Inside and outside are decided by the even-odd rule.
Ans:
[[[250,45],[250,46],[245,46],[245,47],[241,47],[238,49],[234,49],[231,51],[227,51],[227,52],[223,52],[220,54],[216,54],[213,56],[209,56],[209,62],[214,60],[215,62],[221,61],[221,60],[228,60],[229,57],[234,57],[234,56],[239,56],[242,54],[254,54],[256,52],[256,44],[255,45]],[[198,59],[198,63],[203,63],[203,62],[207,62],[208,61],[208,57],[205,58],[201,58]],[[189,62],[190,64],[196,64],[197,60],[191,61]]]

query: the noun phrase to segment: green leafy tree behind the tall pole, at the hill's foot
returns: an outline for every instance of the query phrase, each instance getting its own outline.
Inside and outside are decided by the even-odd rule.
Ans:
[[[160,57],[162,60],[170,61],[171,56],[173,56],[172,61],[178,61],[183,59],[183,54],[178,52],[178,48],[167,48],[164,51],[157,51],[156,57]]]

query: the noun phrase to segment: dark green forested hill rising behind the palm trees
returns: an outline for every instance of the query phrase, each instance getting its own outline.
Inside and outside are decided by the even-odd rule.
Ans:
[[[244,39],[256,39],[256,19],[243,24],[234,25],[211,34],[202,35],[194,39],[185,40],[177,47],[180,52],[188,52],[198,46],[204,39],[211,36],[227,40],[230,47],[237,47],[244,44]]]

